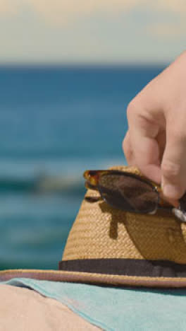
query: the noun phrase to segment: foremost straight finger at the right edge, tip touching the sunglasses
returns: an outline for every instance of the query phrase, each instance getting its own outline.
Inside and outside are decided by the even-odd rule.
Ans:
[[[178,126],[175,127],[178,128]],[[169,199],[180,199],[186,190],[186,135],[183,130],[167,129],[166,149],[161,163],[163,194]]]

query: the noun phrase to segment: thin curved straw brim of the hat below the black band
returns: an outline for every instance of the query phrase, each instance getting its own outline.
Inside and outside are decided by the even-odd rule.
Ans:
[[[90,272],[69,272],[58,270],[14,269],[0,272],[0,281],[13,278],[31,278],[46,281],[68,281],[74,283],[115,286],[145,287],[186,287],[186,277],[137,277],[116,274],[97,274]]]

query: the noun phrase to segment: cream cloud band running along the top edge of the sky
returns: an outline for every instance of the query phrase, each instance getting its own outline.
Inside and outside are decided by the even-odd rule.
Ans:
[[[83,18],[92,13],[116,15],[121,11],[133,8],[149,8],[150,10],[177,13],[185,20],[185,0],[0,0],[0,15],[13,15],[28,8],[39,14],[46,22],[64,25]],[[185,20],[186,21],[186,20]],[[156,28],[154,28],[154,32]]]

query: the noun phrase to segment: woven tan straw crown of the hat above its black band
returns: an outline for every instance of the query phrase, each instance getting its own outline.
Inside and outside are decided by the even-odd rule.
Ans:
[[[112,169],[138,173],[124,166]],[[99,196],[87,190],[85,197]],[[172,214],[132,214],[101,199],[82,202],[68,236],[62,260],[127,258],[169,260],[186,264],[186,225]]]

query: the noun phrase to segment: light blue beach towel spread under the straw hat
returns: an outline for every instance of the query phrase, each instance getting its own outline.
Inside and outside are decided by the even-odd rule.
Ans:
[[[27,287],[55,298],[106,331],[186,330],[186,289],[140,289],[15,278],[0,284]]]

